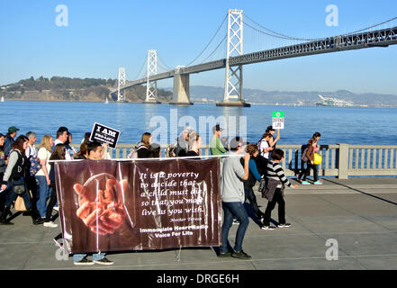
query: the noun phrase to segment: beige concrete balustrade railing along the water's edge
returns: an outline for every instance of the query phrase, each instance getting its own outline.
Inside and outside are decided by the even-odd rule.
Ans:
[[[73,144],[75,148],[78,145]],[[133,144],[119,144],[109,149],[112,158],[126,158]],[[161,145],[162,155],[167,145]],[[302,145],[277,145],[284,150],[282,166],[285,175],[296,175],[302,169]],[[322,162],[319,175],[336,176],[347,179],[348,176],[397,175],[397,145],[320,145]],[[209,147],[202,148],[202,155],[210,155]],[[312,172],[311,172],[312,173]]]

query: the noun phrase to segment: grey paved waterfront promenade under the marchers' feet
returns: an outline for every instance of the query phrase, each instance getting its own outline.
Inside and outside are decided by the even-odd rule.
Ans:
[[[294,180],[292,180],[293,183]],[[30,217],[15,217],[0,226],[0,269],[129,270],[272,270],[396,269],[397,178],[324,179],[322,186],[287,190],[288,229],[266,231],[250,220],[244,250],[250,260],[216,257],[212,247],[108,254],[113,266],[74,266],[56,259],[53,242],[60,229],[33,226]],[[261,210],[266,200],[257,200]],[[55,211],[54,211],[55,212]],[[272,213],[277,220],[277,208]],[[59,223],[59,219],[56,220]],[[237,225],[230,229],[231,244]],[[327,239],[338,241],[338,260],[326,259]],[[335,247],[335,246],[334,246]],[[179,256],[179,258],[177,258]]]

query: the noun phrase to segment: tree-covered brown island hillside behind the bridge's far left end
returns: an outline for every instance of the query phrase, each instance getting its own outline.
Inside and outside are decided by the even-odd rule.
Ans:
[[[87,101],[102,102],[109,97],[110,90],[115,87],[116,79],[69,78],[43,76],[21,80],[17,83],[1,87],[0,96],[9,100],[43,100],[43,101]],[[125,93],[128,102],[140,102],[146,98],[146,87],[137,85]],[[172,92],[158,90],[160,101],[170,101]],[[116,101],[113,96],[110,101]]]

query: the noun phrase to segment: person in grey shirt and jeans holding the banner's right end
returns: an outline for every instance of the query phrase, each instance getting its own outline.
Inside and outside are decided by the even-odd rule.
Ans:
[[[248,228],[249,219],[244,207],[245,193],[243,180],[248,179],[249,175],[249,154],[244,155],[244,167],[239,162],[239,154],[244,152],[243,139],[235,137],[230,140],[230,152],[226,153],[223,161],[221,177],[221,197],[224,220],[222,225],[220,254],[218,257],[234,257],[239,259],[251,258],[242,249],[242,242]],[[229,230],[233,224],[233,217],[239,220],[236,242],[233,251],[228,251]]]

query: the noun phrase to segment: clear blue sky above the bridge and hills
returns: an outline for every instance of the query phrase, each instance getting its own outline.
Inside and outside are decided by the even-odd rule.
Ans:
[[[55,23],[59,4],[68,7],[67,27]],[[329,4],[338,6],[337,27],[325,23]],[[121,66],[133,80],[148,49],[157,49],[168,67],[186,65],[202,51],[230,8],[244,10],[269,29],[301,38],[356,31],[397,16],[395,0],[1,0],[0,85],[30,76],[115,78]],[[387,27],[391,24],[397,21]],[[253,35],[245,30],[245,51],[268,41]],[[397,45],[248,65],[244,88],[397,95],[396,56]],[[190,85],[223,86],[224,77],[224,70],[195,74]],[[159,81],[158,86],[170,87],[172,80]]]

